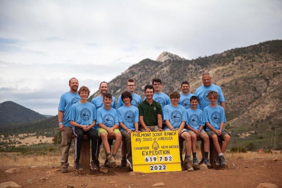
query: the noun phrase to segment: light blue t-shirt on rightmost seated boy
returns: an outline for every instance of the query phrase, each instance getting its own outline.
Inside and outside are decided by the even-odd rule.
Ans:
[[[224,109],[219,105],[216,107],[208,105],[203,111],[203,122],[209,122],[216,130],[219,130],[220,123],[226,122]],[[208,126],[206,130],[210,130]]]

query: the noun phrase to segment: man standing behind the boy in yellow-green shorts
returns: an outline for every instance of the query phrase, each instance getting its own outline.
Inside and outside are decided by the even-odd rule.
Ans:
[[[100,95],[98,95],[97,97],[93,98],[91,100],[91,103],[95,105],[96,110],[98,108],[101,108],[102,106],[104,106],[105,104],[103,103],[103,97],[106,93],[108,93],[109,87],[108,87],[108,83],[103,81],[100,83],[99,86],[99,91],[100,91]],[[115,105],[115,97],[112,96],[112,100],[113,102],[111,103],[111,107],[112,108],[116,108]],[[96,131],[98,131],[98,124],[95,126]],[[99,162],[99,154],[100,154],[100,145],[102,144],[102,141],[99,139],[98,140],[98,147],[97,147],[97,153],[96,153],[96,166],[98,168],[100,168],[100,162]],[[109,144],[112,145],[113,144],[113,140],[109,140]]]

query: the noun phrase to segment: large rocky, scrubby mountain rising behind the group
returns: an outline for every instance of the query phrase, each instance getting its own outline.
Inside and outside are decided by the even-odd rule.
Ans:
[[[152,78],[162,80],[162,91],[169,95],[190,83],[190,92],[202,85],[201,75],[209,72],[212,82],[221,86],[226,101],[225,129],[231,132],[231,145],[256,147],[273,145],[282,136],[282,40],[235,48],[212,56],[185,60],[163,52],[158,61],[144,59],[130,66],[109,82],[109,93],[116,98],[126,90],[128,78],[136,80],[135,93],[144,97],[144,86]],[[176,57],[176,56],[174,56]],[[178,56],[179,57],[179,56]],[[98,95],[89,97],[89,101]],[[282,142],[276,147],[282,148]]]

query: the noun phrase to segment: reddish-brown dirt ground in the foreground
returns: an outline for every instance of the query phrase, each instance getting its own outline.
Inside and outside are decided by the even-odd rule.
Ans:
[[[259,183],[273,183],[282,187],[282,161],[271,159],[229,160],[228,168],[197,170],[194,172],[162,172],[137,174],[129,176],[130,169],[109,169],[108,174],[92,172],[79,175],[73,167],[68,173],[56,171],[60,167],[50,166],[17,167],[19,173],[9,174],[5,171],[11,166],[1,166],[0,183],[13,181],[23,187],[152,187],[153,184],[163,182],[162,187],[256,187]],[[46,172],[54,170],[56,176],[46,177]],[[31,180],[29,180],[31,179]],[[29,182],[31,183],[28,183]]]

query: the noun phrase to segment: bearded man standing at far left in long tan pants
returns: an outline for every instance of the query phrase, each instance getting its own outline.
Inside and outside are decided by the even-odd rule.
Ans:
[[[71,145],[71,136],[73,135],[73,129],[69,121],[70,110],[71,106],[80,100],[80,96],[77,93],[78,80],[71,78],[68,86],[70,87],[70,91],[61,95],[58,108],[59,130],[62,131],[60,158],[62,173],[68,172],[68,153]]]

